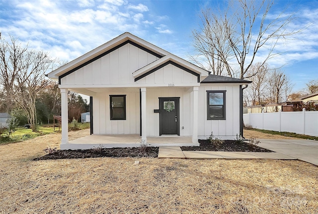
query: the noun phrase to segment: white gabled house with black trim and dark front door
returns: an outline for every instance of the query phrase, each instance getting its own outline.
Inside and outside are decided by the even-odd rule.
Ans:
[[[242,88],[250,81],[209,72],[128,32],[47,75],[59,81],[67,149],[68,91],[90,96],[91,134],[242,134]],[[74,147],[73,147],[74,148]]]

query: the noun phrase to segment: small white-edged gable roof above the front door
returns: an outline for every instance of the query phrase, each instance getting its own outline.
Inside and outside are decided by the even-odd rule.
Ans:
[[[143,68],[138,69],[137,71],[133,72],[133,77],[135,78],[135,82],[148,76],[149,74],[157,71],[158,69],[168,65],[172,64],[176,67],[179,67],[183,69],[184,71],[195,75],[198,77],[198,83],[200,82],[200,75],[203,77],[206,77],[209,75],[209,72],[180,58],[173,54],[168,54],[146,66]]]

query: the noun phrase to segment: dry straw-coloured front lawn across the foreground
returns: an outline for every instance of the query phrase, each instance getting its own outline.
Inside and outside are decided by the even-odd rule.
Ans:
[[[72,132],[70,139],[85,135]],[[0,146],[0,213],[318,213],[301,161],[89,158],[31,161],[60,134]],[[135,165],[135,160],[140,164]]]

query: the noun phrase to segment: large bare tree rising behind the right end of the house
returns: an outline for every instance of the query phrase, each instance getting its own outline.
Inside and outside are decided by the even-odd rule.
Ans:
[[[260,62],[264,65],[281,54],[274,51],[279,40],[300,31],[289,30],[295,19],[294,13],[282,11],[274,18],[269,16],[273,2],[232,0],[222,12],[218,9],[203,10],[203,26],[192,32],[193,46],[197,51],[192,58],[201,60],[199,65],[207,66],[214,74],[222,74],[226,70],[230,77],[240,79],[255,75],[247,75],[247,72],[260,49],[267,49],[267,55]]]

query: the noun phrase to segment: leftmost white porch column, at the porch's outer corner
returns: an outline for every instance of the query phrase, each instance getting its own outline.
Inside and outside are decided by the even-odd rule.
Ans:
[[[61,89],[62,140],[61,144],[69,142],[68,89]]]

